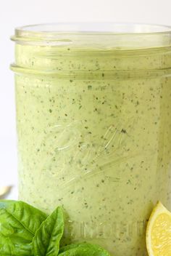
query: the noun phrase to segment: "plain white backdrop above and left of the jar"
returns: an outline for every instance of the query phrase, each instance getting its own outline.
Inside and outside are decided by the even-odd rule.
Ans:
[[[14,81],[9,64],[20,25],[109,21],[171,25],[171,0],[1,0],[0,1],[0,186],[17,181]]]

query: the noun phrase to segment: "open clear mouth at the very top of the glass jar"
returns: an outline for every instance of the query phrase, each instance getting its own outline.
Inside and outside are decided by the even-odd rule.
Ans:
[[[170,25],[146,24],[146,23],[44,23],[24,25],[16,28],[17,35],[25,33],[109,33],[109,34],[149,34],[171,33]]]

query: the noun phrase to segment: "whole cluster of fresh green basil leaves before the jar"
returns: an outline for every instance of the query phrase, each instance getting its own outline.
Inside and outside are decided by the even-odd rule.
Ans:
[[[47,216],[23,201],[0,200],[1,256],[110,256],[86,242],[60,247],[63,233],[61,207]]]

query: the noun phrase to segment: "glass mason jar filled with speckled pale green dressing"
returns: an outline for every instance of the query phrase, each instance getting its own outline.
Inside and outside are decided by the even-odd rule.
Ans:
[[[158,200],[171,209],[171,28],[17,28],[20,199],[67,213],[62,243],[146,255]]]

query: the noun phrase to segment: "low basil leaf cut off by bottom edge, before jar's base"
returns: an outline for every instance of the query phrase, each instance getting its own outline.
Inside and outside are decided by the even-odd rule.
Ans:
[[[60,248],[59,256],[110,256],[109,252],[96,244],[70,244]]]

